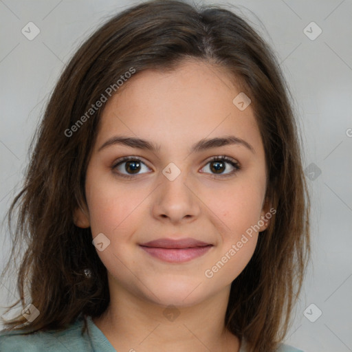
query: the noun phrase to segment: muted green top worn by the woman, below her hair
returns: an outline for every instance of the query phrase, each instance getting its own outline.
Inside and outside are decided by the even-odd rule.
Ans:
[[[102,331],[87,317],[88,333],[81,335],[83,317],[63,331],[37,331],[24,335],[23,331],[0,331],[1,352],[116,352]],[[137,347],[136,347],[137,348]],[[133,348],[131,348],[133,351]],[[137,351],[137,350],[136,350]],[[239,352],[246,352],[245,342]],[[277,352],[303,352],[281,344]]]

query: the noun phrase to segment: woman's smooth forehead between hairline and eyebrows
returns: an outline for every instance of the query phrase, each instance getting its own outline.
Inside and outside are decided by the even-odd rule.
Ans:
[[[233,103],[240,93],[230,73],[201,61],[139,72],[107,102],[98,143],[116,133],[165,146],[229,133],[260,143],[252,108],[241,111]]]

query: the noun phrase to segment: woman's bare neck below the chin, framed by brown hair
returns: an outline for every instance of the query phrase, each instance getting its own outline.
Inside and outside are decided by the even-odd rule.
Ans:
[[[116,351],[239,351],[225,328],[230,287],[191,307],[162,307],[123,289],[93,321]]]

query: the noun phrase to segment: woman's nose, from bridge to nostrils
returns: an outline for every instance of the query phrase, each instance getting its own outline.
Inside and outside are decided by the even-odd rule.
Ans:
[[[200,214],[200,200],[195,186],[190,184],[186,174],[181,172],[173,181],[164,175],[160,175],[160,178],[161,184],[155,190],[153,199],[153,216],[159,221],[174,225],[197,219]]]

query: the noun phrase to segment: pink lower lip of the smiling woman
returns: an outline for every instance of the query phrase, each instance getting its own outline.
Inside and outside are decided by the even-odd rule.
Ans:
[[[184,263],[206,254],[212,245],[195,248],[156,248],[141,246],[151,256],[168,263]]]

